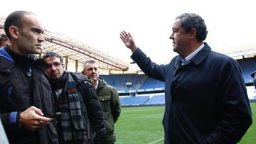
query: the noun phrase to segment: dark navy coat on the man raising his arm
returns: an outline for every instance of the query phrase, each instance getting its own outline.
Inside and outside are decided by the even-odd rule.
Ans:
[[[178,56],[157,65],[137,49],[132,59],[149,77],[165,82],[165,143],[238,143],[252,123],[238,62],[205,43],[176,70]]]

